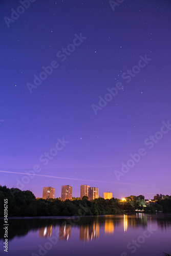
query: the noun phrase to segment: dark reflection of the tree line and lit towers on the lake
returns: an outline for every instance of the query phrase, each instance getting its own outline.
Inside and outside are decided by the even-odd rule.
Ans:
[[[100,232],[105,234],[114,234],[114,230],[120,229],[123,233],[130,229],[142,229],[156,224],[160,230],[171,228],[170,214],[147,215],[137,213],[136,215],[121,216],[97,216],[80,217],[77,221],[72,218],[22,218],[9,219],[9,240],[14,237],[24,237],[30,231],[37,231],[37,237],[48,238],[53,236],[53,230],[59,232],[59,240],[68,241],[71,238],[71,229],[76,228],[79,231],[78,239],[80,241],[92,241],[99,239]],[[3,225],[3,219],[0,220]],[[3,229],[0,229],[0,239],[4,238]]]

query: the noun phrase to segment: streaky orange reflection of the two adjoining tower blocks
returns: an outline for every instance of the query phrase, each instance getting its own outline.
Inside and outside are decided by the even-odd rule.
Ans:
[[[99,238],[99,223],[93,222],[87,225],[80,225],[80,240],[90,241],[97,238]]]

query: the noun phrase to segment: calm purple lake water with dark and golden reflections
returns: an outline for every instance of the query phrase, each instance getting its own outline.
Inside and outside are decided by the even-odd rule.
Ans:
[[[0,220],[1,227],[3,220]],[[9,220],[8,254],[155,256],[171,253],[171,215],[136,214],[78,218],[22,218]]]

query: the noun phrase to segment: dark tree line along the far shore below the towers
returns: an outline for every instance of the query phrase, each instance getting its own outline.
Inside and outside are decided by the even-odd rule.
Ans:
[[[4,199],[8,199],[8,216],[92,216],[133,213],[136,210],[147,213],[171,212],[171,196],[157,194],[154,200],[146,202],[140,195],[117,198],[98,198],[89,201],[87,197],[73,198],[72,201],[35,198],[30,190],[7,188],[0,185],[0,216],[4,216]]]

